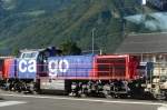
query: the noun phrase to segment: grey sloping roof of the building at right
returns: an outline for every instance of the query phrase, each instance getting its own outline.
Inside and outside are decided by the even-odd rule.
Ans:
[[[167,53],[167,33],[127,36],[115,53]]]

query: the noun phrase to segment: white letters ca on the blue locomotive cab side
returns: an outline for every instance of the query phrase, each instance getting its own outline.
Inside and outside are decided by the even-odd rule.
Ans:
[[[37,66],[36,60],[20,60],[19,71],[20,72],[36,72]]]

